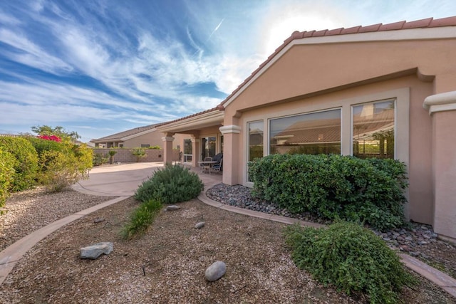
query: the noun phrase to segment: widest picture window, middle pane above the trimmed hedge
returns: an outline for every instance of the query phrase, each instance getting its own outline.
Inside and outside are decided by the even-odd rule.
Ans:
[[[269,154],[341,154],[341,110],[269,121]]]

